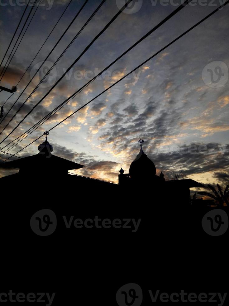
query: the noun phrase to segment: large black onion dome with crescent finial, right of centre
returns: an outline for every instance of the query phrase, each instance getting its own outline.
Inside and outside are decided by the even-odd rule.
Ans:
[[[135,160],[130,165],[131,179],[153,178],[156,175],[156,167],[151,159],[142,150],[142,143],[144,140],[139,140],[140,152]]]

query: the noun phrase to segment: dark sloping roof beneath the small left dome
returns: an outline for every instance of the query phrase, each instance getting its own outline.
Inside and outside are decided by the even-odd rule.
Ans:
[[[24,157],[18,160],[12,160],[1,165],[4,168],[28,168],[47,166],[51,168],[58,167],[59,169],[73,170],[83,168],[83,165],[74,163],[73,161],[66,160],[62,157],[50,154],[50,156],[45,156],[42,154],[36,154],[28,157]]]

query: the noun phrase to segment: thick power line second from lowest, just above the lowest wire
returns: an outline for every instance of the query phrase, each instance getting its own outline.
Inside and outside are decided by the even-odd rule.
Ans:
[[[158,23],[155,27],[153,27],[148,33],[146,33],[143,37],[141,37],[141,39],[139,39],[135,44],[133,44],[130,48],[128,48],[124,53],[122,53],[119,57],[117,57],[116,60],[114,60],[110,65],[108,65],[106,68],[103,69],[103,71],[101,71],[97,76],[93,77],[90,81],[88,81],[88,83],[86,83],[85,85],[83,85],[78,91],[76,91],[72,96],[70,96],[68,99],[66,99],[64,102],[62,102],[59,106],[57,106],[53,111],[51,111],[49,114],[47,114],[43,119],[41,119],[40,121],[38,121],[34,126],[32,126],[30,129],[28,129],[26,132],[24,132],[21,136],[18,136],[15,140],[9,142],[6,146],[8,146],[9,144],[11,144],[12,142],[16,141],[18,138],[21,138],[23,135],[26,135],[29,131],[31,131],[35,126],[37,126],[39,123],[41,123],[41,121],[44,121],[46,118],[46,120],[43,122],[45,123],[48,119],[51,118],[51,116],[53,116],[57,111],[59,111],[62,107],[64,107],[64,105],[66,105],[73,96],[78,95],[82,90],[84,90],[88,85],[90,85],[97,77],[99,77],[103,72],[105,72],[109,67],[111,67],[115,62],[117,62],[121,57],[123,57],[126,53],[128,53],[131,49],[133,49],[134,47],[136,47],[136,45],[138,45],[140,42],[142,42],[146,37],[148,37],[150,34],[152,34],[156,29],[158,29],[162,24],[164,24],[166,21],[168,21],[171,17],[173,17],[177,12],[179,12],[185,5],[188,4],[188,2],[190,2],[191,0],[186,0],[184,2],[184,4],[180,5],[176,10],[174,10],[174,12],[170,13],[166,18],[164,18],[160,23]],[[51,116],[50,116],[51,115]],[[42,124],[43,124],[42,123]],[[41,125],[42,125],[41,124]],[[38,127],[40,127],[41,125],[39,125]],[[36,128],[33,130],[35,131]],[[33,132],[32,131],[32,132]],[[29,133],[27,136],[29,136],[31,133]],[[20,143],[22,140],[24,140],[26,137],[22,138],[21,140],[17,141],[14,145],[12,145],[9,149],[11,149],[12,147],[14,147],[15,145],[17,145],[18,143]],[[3,148],[5,148],[6,146],[4,146]]]

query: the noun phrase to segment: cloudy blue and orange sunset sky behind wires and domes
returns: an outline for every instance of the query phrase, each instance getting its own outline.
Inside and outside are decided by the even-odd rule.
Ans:
[[[22,16],[25,2],[26,0],[0,1],[0,60]],[[39,83],[47,67],[51,67],[100,2],[97,0],[87,2],[41,71],[36,74],[1,123],[1,131]],[[11,88],[17,84],[68,3],[69,0],[41,1],[2,78],[1,86]],[[72,0],[18,84],[18,91],[4,105],[4,114],[17,100],[83,3],[81,0]],[[49,91],[124,3],[125,0],[105,1],[45,81],[2,132],[0,141]],[[178,3],[181,1],[134,0],[133,5],[117,17],[41,104],[0,145],[1,148],[24,133],[107,67],[173,12]],[[41,136],[44,131],[49,130],[114,84],[221,4],[222,0],[192,1],[9,153],[15,154]],[[31,7],[26,10],[23,20],[30,9]],[[129,173],[129,166],[140,149],[138,140],[142,138],[143,151],[153,160],[158,175],[162,171],[166,179],[172,179],[173,172],[182,170],[187,177],[204,184],[227,185],[229,181],[228,14],[229,5],[50,131],[48,141],[54,147],[53,154],[85,166],[81,170],[73,170],[74,173],[117,182],[121,167],[125,173]],[[16,39],[17,35],[13,42]],[[10,52],[11,48],[7,52],[6,59]],[[4,65],[5,60],[1,70]],[[3,105],[9,96],[10,93],[2,91],[0,105]],[[38,153],[37,146],[44,140],[45,137],[42,137],[17,156],[25,157]],[[7,148],[2,150],[5,151]],[[4,154],[0,159],[3,161],[9,156]],[[1,176],[12,173],[17,173],[17,170],[0,170]]]

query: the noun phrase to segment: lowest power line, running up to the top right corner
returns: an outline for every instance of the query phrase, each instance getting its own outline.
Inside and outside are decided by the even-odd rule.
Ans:
[[[154,58],[155,56],[157,56],[160,52],[164,51],[167,47],[171,46],[174,42],[176,42],[177,40],[179,40],[181,37],[183,37],[184,35],[186,35],[188,32],[190,32],[191,30],[193,30],[195,27],[197,27],[199,24],[201,24],[202,22],[204,22],[206,19],[208,19],[210,16],[212,16],[214,13],[216,13],[218,10],[220,10],[222,7],[226,6],[229,3],[229,0],[227,0],[224,4],[222,4],[221,6],[219,6],[218,8],[216,8],[213,12],[211,12],[210,14],[208,14],[206,17],[204,17],[202,20],[200,20],[199,22],[197,22],[194,26],[190,27],[187,31],[185,31],[183,34],[179,35],[178,37],[176,37],[172,42],[170,42],[169,44],[167,44],[165,47],[163,47],[162,49],[160,49],[158,52],[156,52],[155,54],[153,54],[151,57],[149,57],[146,61],[142,62],[140,65],[138,65],[135,69],[133,69],[131,72],[127,73],[124,77],[122,77],[120,80],[118,80],[117,82],[115,82],[114,84],[112,84],[111,86],[109,86],[107,89],[105,89],[104,91],[102,91],[99,95],[97,95],[96,97],[94,97],[92,100],[88,101],[86,104],[84,104],[83,106],[81,106],[78,110],[74,111],[71,115],[69,115],[68,117],[66,117],[65,119],[63,119],[62,121],[60,121],[58,124],[56,124],[55,126],[53,126],[50,130],[48,130],[48,132],[50,132],[51,130],[53,130],[56,126],[60,125],[62,122],[64,122],[65,120],[67,120],[69,117],[73,116],[75,113],[77,113],[78,111],[80,111],[83,107],[87,106],[90,102],[92,102],[93,100],[97,99],[99,96],[101,96],[104,92],[106,92],[107,90],[111,89],[113,86],[115,86],[117,83],[119,83],[120,81],[122,81],[124,78],[126,78],[128,75],[130,75],[132,72],[134,72],[135,70],[137,70],[138,68],[140,68],[141,66],[145,65],[146,62],[150,61],[152,58]],[[34,141],[32,141],[31,143],[29,143],[28,145],[26,145],[24,148],[22,148],[21,150],[19,150],[17,153],[13,154],[12,156],[15,156],[16,154],[18,154],[19,152],[21,152],[22,150],[24,150],[25,148],[27,148],[28,146],[30,146],[31,144],[33,144],[35,141],[37,141],[38,139],[40,139],[42,136],[44,136],[43,134],[41,136],[39,136],[38,138],[36,138]],[[10,158],[10,157],[9,157]],[[9,158],[7,158],[6,160],[8,160]],[[5,162],[6,160],[4,160],[3,162]]]

